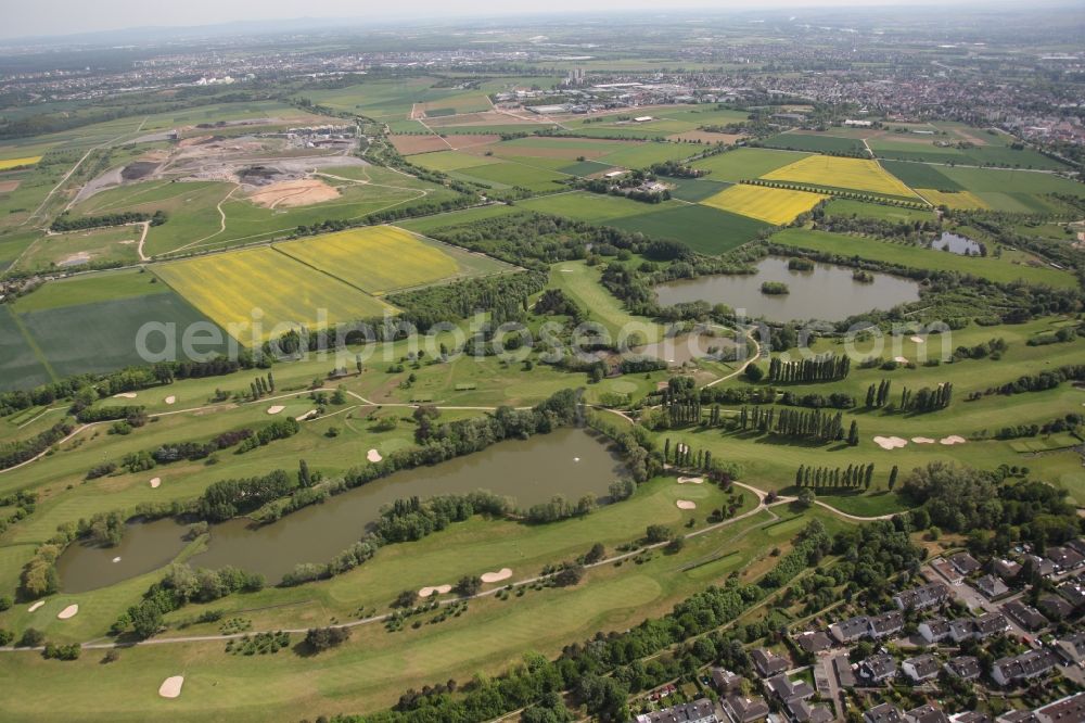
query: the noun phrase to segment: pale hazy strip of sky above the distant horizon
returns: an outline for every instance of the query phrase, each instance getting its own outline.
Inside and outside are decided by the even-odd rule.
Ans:
[[[242,20],[294,17],[382,18],[412,15],[419,18],[449,15],[497,15],[528,12],[715,10],[767,7],[812,8],[826,5],[902,4],[904,0],[408,0],[403,3],[373,0],[3,0],[0,37],[114,30],[144,26],[215,25]],[[950,0],[960,4],[960,0]],[[946,3],[942,3],[946,4]]]

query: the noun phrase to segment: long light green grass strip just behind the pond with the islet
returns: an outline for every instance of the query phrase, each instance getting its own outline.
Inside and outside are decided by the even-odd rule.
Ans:
[[[972,274],[1003,283],[1020,280],[1059,289],[1073,289],[1077,286],[1070,274],[1046,266],[1013,264],[993,256],[961,256],[934,249],[888,243],[866,237],[807,229],[784,229],[774,236],[773,240],[799,249],[828,251],[841,256],[859,256],[911,268]]]

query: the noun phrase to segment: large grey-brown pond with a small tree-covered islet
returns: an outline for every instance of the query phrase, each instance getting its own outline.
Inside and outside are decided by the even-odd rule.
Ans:
[[[919,301],[919,283],[889,274],[872,274],[873,281],[856,281],[853,269],[815,264],[809,271],[793,271],[788,259],[769,256],[757,264],[756,274],[702,276],[655,287],[662,306],[706,301],[745,309],[746,316],[770,321],[822,319],[839,321],[871,309],[890,309]],[[788,286],[787,294],[762,293],[766,281]]]

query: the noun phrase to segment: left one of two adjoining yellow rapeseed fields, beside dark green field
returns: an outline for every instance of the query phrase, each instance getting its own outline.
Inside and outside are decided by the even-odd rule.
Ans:
[[[349,322],[394,308],[268,246],[159,264],[153,270],[246,345],[278,337],[288,327],[315,330],[321,322]],[[254,309],[260,310],[263,327],[256,334]]]

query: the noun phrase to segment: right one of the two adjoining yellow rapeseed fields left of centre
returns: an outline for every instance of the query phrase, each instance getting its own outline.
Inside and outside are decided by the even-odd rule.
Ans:
[[[460,265],[441,248],[394,226],[356,228],[276,248],[371,294],[420,287],[460,274]]]

